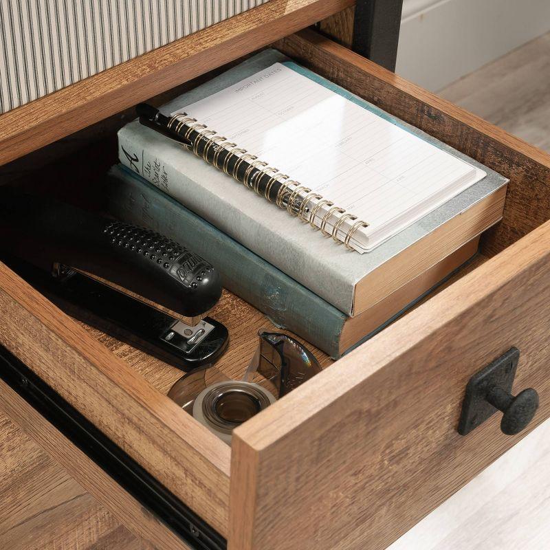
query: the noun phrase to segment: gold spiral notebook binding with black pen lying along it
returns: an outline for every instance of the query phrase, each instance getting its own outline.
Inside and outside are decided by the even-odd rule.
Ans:
[[[299,217],[309,223],[315,230],[320,230],[325,236],[331,236],[336,243],[343,243],[349,250],[355,250],[351,245],[353,235],[360,228],[369,227],[369,223],[358,220],[356,216],[335,206],[333,202],[324,199],[312,191],[289,179],[287,174],[252,155],[227,137],[197,122],[187,113],[175,113],[171,118],[162,115],[157,109],[146,104],[137,106],[140,122],[177,140],[181,146],[192,151],[212,166],[231,175],[236,181],[263,195],[267,200],[276,203],[279,208],[286,208],[289,214]],[[326,212],[324,209],[327,209]],[[321,217],[318,221],[318,217]],[[330,223],[329,223],[330,222]],[[342,225],[351,223],[347,232]],[[327,230],[327,224],[331,229]],[[341,237],[339,232],[344,232]]]

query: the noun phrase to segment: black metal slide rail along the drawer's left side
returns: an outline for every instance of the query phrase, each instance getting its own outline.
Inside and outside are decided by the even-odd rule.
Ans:
[[[227,549],[217,531],[1,345],[0,378],[190,549]]]

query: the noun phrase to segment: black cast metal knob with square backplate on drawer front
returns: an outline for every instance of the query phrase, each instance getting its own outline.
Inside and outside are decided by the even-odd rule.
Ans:
[[[504,413],[500,421],[504,434],[514,435],[527,427],[538,409],[538,393],[527,388],[516,397],[511,395],[519,357],[519,350],[511,348],[470,378],[462,404],[459,434],[470,433],[492,417],[496,409]]]

